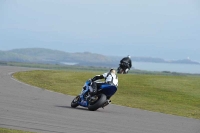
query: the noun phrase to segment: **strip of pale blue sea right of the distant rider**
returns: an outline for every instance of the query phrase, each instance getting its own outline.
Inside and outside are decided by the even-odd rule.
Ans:
[[[198,64],[132,62],[132,66],[135,69],[146,71],[170,71],[179,73],[200,74],[200,65]]]

